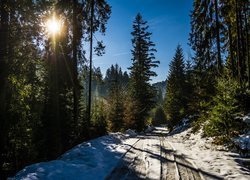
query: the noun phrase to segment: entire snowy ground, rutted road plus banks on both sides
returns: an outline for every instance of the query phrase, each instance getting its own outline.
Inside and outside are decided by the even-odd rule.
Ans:
[[[184,179],[249,180],[239,155],[211,144],[192,129],[145,135],[128,130],[83,142],[58,159],[26,166],[13,180]]]

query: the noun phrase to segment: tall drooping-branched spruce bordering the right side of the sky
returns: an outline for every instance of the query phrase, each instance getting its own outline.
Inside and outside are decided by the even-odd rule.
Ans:
[[[196,109],[194,113],[207,111],[208,102],[215,94],[215,82],[218,75],[216,72],[219,72],[217,68],[221,68],[221,65],[219,65],[221,64],[221,56],[217,53],[220,49],[220,43],[218,43],[220,36],[217,36],[220,32],[220,29],[218,29],[220,23],[214,19],[215,5],[213,3],[208,0],[195,0],[191,12],[189,41],[195,52],[193,57],[193,83],[196,88],[194,89],[194,101],[191,105]]]

